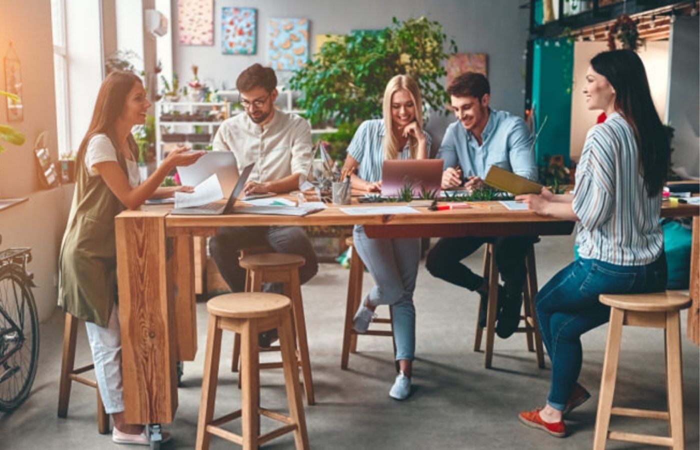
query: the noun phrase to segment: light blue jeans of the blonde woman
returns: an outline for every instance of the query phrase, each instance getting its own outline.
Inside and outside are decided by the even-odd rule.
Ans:
[[[393,316],[396,360],[413,360],[416,351],[416,288],[420,239],[371,239],[362,225],[353,229],[355,249],[374,279],[370,304],[388,304]]]

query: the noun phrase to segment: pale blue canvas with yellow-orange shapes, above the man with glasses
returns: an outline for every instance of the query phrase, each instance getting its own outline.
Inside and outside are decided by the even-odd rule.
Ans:
[[[309,60],[309,20],[269,20],[267,65],[275,70],[295,71]]]

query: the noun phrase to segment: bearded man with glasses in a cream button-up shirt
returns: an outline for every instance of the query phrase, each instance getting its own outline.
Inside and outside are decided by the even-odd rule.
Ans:
[[[225,120],[214,136],[214,150],[233,152],[239,170],[255,163],[244,187],[246,195],[298,189],[300,174],[307,174],[311,167],[309,122],[274,108],[276,86],[277,77],[269,67],[253,64],[241,72],[236,87],[245,113]],[[233,292],[245,287],[246,271],[238,264],[238,252],[262,245],[303,256],[301,283],[318,271],[316,253],[302,227],[221,227],[211,238],[209,252]],[[280,288],[272,284],[263,290],[281,292]],[[260,346],[269,346],[276,339],[276,330],[272,331],[260,335]]]

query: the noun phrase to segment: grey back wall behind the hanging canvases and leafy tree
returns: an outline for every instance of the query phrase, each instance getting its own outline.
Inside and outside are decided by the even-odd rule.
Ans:
[[[528,12],[515,0],[214,0],[214,45],[183,46],[177,42],[177,4],[172,1],[174,68],[181,84],[192,77],[190,66],[200,67],[200,79],[209,85],[232,88],[241,70],[267,58],[267,22],[269,17],[306,17],[309,25],[309,49],[315,47],[316,34],[345,34],[352,29],[384,28],[391,17],[405,20],[426,15],[444,27],[454,38],[460,52],[488,54],[491,104],[522,115]],[[258,9],[258,54],[221,54],[221,8],[223,6]],[[281,83],[290,73],[278,73]],[[428,130],[433,141],[442,139],[450,118],[430,119]]]

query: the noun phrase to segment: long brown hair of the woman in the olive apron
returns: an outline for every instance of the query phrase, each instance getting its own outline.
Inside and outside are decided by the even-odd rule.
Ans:
[[[118,143],[116,136],[114,136],[114,124],[124,109],[127,95],[134,87],[134,83],[141,83],[141,78],[128,71],[113,71],[102,81],[102,85],[97,93],[97,100],[94,102],[90,127],[87,127],[87,133],[85,133],[85,137],[83,137],[83,141],[80,141],[80,147],[78,147],[76,179],[80,167],[85,166],[87,143],[90,142],[90,138],[94,134],[106,134],[115,145]],[[129,136],[127,141],[132,153],[134,153],[134,148],[136,148],[134,137]],[[138,155],[134,154],[134,157],[138,157]]]

